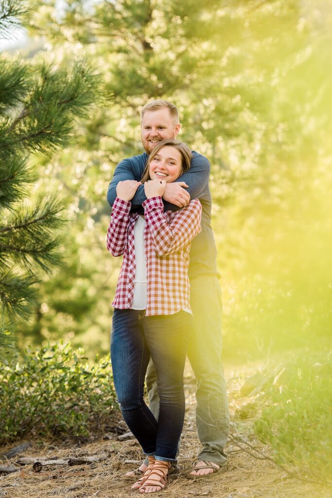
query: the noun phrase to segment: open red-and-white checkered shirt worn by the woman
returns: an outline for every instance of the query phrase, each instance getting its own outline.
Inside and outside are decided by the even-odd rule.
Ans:
[[[161,197],[152,197],[144,208],[144,249],[147,270],[146,316],[171,315],[189,303],[189,250],[201,231],[202,206],[198,199],[179,211],[164,211]],[[116,198],[107,234],[107,249],[123,254],[112,306],[130,309],[135,280],[134,225],[138,213],[130,214],[131,203]]]

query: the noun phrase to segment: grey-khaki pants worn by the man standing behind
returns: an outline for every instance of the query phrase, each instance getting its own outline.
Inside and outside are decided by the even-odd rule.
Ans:
[[[188,358],[195,373],[196,427],[203,446],[198,460],[224,465],[223,451],[229,431],[229,412],[221,363],[221,289],[218,278],[202,276],[190,282],[190,304],[194,314],[189,331]],[[156,373],[150,361],[146,373],[149,406],[158,417]],[[179,449],[178,449],[179,453]]]

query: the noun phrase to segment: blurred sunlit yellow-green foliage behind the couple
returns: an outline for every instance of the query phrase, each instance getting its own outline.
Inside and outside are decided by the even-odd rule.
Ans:
[[[34,192],[73,216],[66,265],[36,284],[22,346],[70,340],[107,353],[119,261],[105,249],[106,191],[140,153],[147,100],[179,106],[182,133],[211,161],[225,360],[325,348],[332,323],[329,0],[29,2],[29,43],[8,59],[87,58],[107,102],[74,144],[34,155]],[[32,195],[34,195],[32,193]]]

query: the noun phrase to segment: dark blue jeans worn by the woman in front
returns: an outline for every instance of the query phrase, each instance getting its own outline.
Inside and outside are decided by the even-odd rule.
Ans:
[[[117,401],[143,452],[174,461],[185,414],[183,371],[191,315],[185,311],[150,317],[144,314],[114,309],[111,363]],[[150,356],[157,374],[158,422],[143,399]]]

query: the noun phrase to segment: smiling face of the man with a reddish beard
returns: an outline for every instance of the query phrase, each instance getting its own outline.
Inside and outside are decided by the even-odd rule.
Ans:
[[[141,134],[143,147],[148,154],[160,140],[174,140],[179,131],[180,124],[175,124],[166,107],[157,111],[145,111],[141,123]]]

